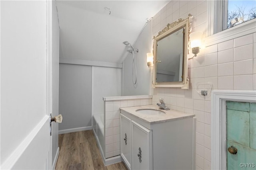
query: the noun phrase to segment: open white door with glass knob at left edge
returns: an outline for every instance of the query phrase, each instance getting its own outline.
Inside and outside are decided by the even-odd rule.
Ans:
[[[1,168],[51,169],[52,2],[0,9]]]

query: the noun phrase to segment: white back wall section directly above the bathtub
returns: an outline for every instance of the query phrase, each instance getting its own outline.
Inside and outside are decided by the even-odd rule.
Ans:
[[[121,68],[92,66],[92,115],[103,115],[102,98],[111,96],[121,96]]]

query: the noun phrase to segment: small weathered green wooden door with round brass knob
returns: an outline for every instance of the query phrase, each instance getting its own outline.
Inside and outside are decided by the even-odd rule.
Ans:
[[[226,108],[227,170],[256,170],[256,103],[227,101]]]

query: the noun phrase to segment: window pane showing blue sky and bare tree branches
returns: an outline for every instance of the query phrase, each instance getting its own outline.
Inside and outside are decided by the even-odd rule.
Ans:
[[[231,28],[256,18],[256,1],[228,0],[226,10],[227,15],[225,16],[226,21],[223,21],[223,29]]]

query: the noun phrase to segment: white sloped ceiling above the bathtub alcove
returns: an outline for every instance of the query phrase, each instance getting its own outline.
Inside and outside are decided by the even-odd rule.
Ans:
[[[60,57],[122,63],[127,55],[122,42],[133,44],[146,18],[153,17],[168,2],[57,0]]]

